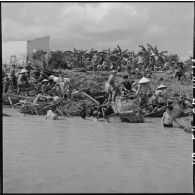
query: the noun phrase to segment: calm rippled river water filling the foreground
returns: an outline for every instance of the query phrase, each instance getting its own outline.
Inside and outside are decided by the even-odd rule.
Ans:
[[[12,115],[3,118],[4,193],[192,193],[192,136],[160,118],[48,121],[4,112]]]

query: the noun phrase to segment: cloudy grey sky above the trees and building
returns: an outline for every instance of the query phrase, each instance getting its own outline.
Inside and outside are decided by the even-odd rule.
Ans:
[[[192,2],[2,3],[2,40],[50,36],[51,50],[115,48],[147,43],[192,56]]]

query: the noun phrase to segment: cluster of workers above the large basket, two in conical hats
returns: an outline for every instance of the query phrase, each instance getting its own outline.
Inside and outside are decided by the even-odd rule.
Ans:
[[[108,81],[105,83],[105,90],[108,93],[108,102],[115,101],[116,96],[126,97],[133,96],[139,100],[140,107],[148,104],[158,106],[160,103],[167,103],[166,86],[160,84],[155,92],[152,92],[150,80],[142,77],[138,83],[129,79],[128,75],[123,76],[123,80],[119,85],[116,85],[116,73],[112,71]],[[161,98],[160,98],[161,97]]]

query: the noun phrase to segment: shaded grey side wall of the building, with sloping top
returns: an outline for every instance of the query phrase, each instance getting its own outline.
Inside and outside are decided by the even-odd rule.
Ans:
[[[49,36],[40,37],[32,41],[27,41],[28,60],[32,60],[33,52],[44,50],[49,52]]]

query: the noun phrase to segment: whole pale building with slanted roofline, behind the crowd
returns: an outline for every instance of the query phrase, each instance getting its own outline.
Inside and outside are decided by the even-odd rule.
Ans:
[[[33,52],[49,51],[49,36],[32,41],[3,41],[2,64],[25,66],[27,60],[32,60]]]

